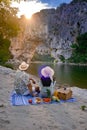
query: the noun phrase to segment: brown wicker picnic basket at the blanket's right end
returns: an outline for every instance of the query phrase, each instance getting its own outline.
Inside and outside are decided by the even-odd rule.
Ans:
[[[58,89],[58,97],[62,100],[67,100],[72,97],[72,90],[70,88],[60,88]]]

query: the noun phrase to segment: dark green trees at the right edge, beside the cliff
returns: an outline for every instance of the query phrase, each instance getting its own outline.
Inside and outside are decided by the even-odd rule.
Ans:
[[[72,44],[74,49],[70,62],[75,63],[87,63],[87,33],[84,33],[77,37],[77,43]]]

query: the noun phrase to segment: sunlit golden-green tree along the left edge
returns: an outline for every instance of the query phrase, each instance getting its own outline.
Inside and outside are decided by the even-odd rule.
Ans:
[[[10,0],[0,0],[0,64],[5,64],[10,58],[10,38],[17,36],[20,21],[17,9],[10,6]]]

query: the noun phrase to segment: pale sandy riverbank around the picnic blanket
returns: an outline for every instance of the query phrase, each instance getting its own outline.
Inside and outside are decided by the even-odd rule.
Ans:
[[[12,106],[15,70],[0,66],[0,130],[87,130],[87,90],[71,88],[74,103]]]

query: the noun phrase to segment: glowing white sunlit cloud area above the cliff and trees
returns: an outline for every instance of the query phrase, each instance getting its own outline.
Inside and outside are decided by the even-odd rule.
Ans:
[[[17,7],[19,9],[17,14],[18,17],[24,15],[28,19],[31,18],[32,14],[39,12],[41,9],[50,8],[48,4],[43,4],[38,1],[21,1],[20,3],[12,2],[12,7]]]

